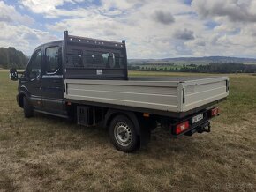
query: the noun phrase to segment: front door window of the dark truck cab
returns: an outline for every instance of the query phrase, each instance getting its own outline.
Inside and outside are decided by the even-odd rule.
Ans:
[[[27,75],[30,79],[39,78],[41,76],[41,50],[37,50],[32,55]]]

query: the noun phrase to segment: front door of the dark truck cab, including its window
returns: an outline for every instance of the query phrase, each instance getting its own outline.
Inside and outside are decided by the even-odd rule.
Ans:
[[[21,88],[26,90],[33,107],[38,108],[42,106],[41,102],[41,63],[42,52],[41,49],[34,51],[29,63],[26,67],[25,77],[21,81]]]

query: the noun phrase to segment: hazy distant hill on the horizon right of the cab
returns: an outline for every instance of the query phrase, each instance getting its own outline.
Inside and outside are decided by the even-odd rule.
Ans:
[[[174,63],[177,65],[183,64],[209,64],[209,63],[244,63],[256,64],[254,58],[238,58],[228,56],[205,56],[205,57],[177,57],[177,58],[164,58],[164,59],[129,59],[129,64],[143,64],[143,63]]]

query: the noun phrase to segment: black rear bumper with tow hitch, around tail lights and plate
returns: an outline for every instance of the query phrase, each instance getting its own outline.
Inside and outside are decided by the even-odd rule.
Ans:
[[[171,130],[171,134],[173,136],[181,136],[181,135],[186,135],[186,136],[192,136],[194,133],[203,133],[203,132],[210,132],[211,131],[211,124],[209,122],[209,120],[211,120],[212,118],[214,118],[215,116],[218,116],[219,114],[215,114],[214,116],[211,114],[212,113],[212,109],[214,109],[216,107],[209,107],[204,111],[201,111],[197,114],[192,114],[191,116],[184,118],[182,121],[180,122],[176,122],[175,124],[171,124],[170,125],[170,130]],[[203,114],[204,118],[202,120],[200,120],[200,122],[192,122],[193,117],[197,116],[198,114]],[[182,123],[182,122],[189,122],[189,129],[184,130],[183,132],[181,132],[180,134],[176,133],[176,127],[178,124]]]

